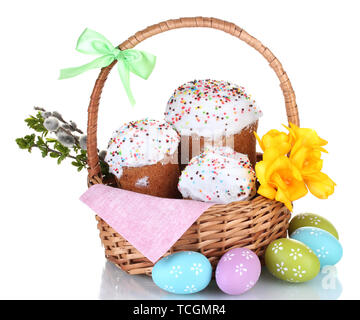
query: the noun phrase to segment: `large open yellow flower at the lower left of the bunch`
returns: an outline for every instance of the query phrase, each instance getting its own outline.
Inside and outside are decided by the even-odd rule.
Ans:
[[[258,193],[284,203],[292,211],[291,202],[308,192],[300,171],[287,156],[280,155],[275,148],[267,149],[263,159],[255,166],[260,182]]]

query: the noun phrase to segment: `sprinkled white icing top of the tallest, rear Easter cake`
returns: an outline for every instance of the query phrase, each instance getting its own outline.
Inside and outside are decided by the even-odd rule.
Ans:
[[[179,134],[212,138],[239,133],[261,116],[243,87],[217,80],[183,84],[174,91],[165,111],[165,120]]]

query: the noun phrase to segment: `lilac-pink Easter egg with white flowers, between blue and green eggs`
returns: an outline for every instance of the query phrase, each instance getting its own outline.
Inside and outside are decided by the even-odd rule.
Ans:
[[[258,256],[246,248],[235,248],[225,253],[215,272],[216,283],[221,291],[239,295],[251,289],[258,281],[261,263]]]

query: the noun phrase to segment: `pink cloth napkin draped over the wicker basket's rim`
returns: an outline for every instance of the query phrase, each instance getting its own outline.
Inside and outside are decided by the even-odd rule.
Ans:
[[[155,263],[212,203],[164,199],[97,184],[80,200]]]

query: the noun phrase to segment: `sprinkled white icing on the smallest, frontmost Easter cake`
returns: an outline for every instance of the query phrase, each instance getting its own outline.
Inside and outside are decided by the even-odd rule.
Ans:
[[[184,198],[227,204],[255,195],[249,158],[229,147],[207,149],[182,171],[178,189]]]

